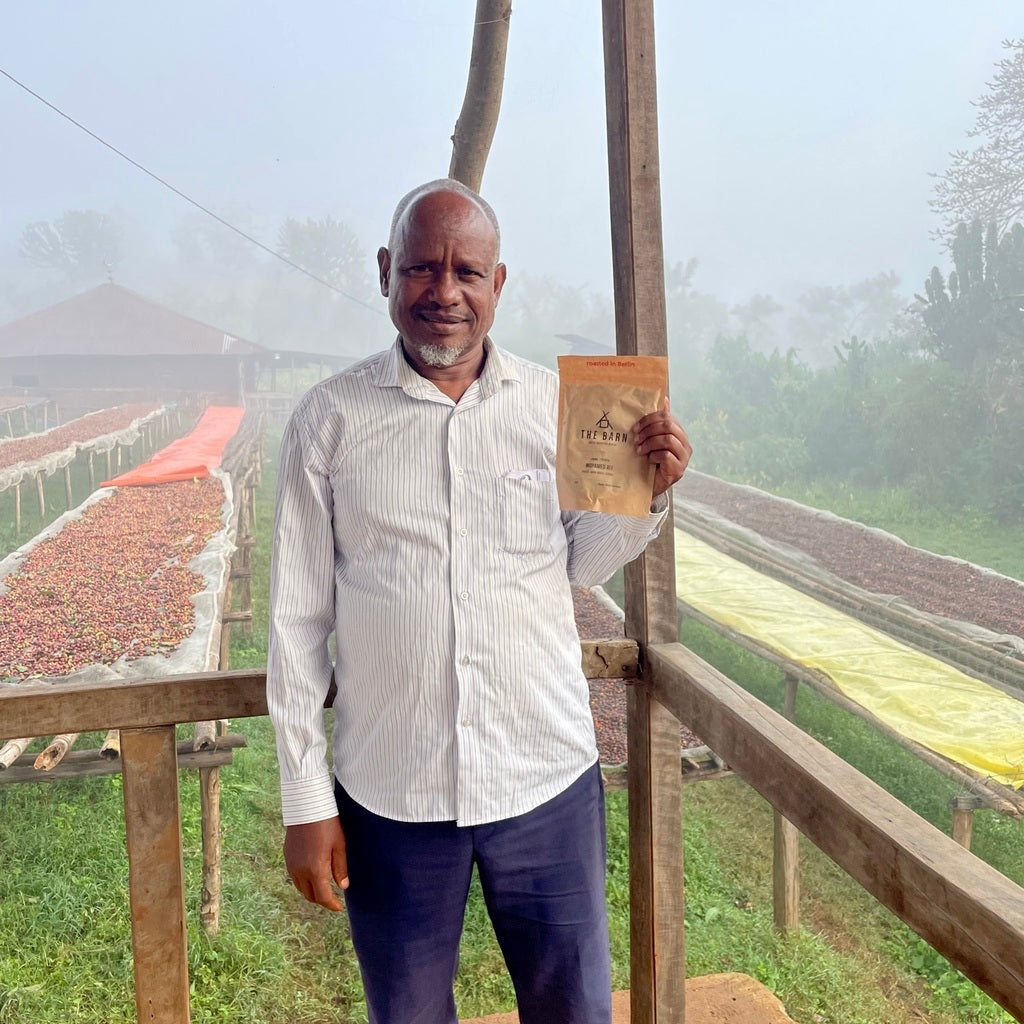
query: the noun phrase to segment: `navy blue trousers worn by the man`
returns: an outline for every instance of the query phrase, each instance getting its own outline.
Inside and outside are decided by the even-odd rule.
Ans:
[[[536,810],[485,825],[393,821],[340,785],[335,795],[371,1024],[456,1024],[452,983],[474,863],[521,1024],[610,1024],[597,765]]]

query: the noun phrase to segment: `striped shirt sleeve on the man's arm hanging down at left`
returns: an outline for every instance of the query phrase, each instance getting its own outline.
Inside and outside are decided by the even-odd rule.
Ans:
[[[286,825],[338,813],[324,732],[335,622],[332,523],[331,480],[297,412],[285,428],[278,469],[266,670]]]

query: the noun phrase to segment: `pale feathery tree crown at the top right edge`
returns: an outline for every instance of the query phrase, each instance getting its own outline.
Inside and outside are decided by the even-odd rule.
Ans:
[[[949,169],[936,175],[931,206],[943,216],[943,233],[974,220],[994,223],[1001,233],[1024,217],[1024,39],[1002,46],[1009,56],[974,101],[978,116],[967,134],[978,144],[950,154]]]

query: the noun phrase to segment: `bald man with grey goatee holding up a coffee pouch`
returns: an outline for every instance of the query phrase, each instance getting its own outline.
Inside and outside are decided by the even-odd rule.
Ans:
[[[665,412],[647,519],[560,513],[557,378],[487,337],[498,223],[451,180],[378,253],[398,338],[299,403],[281,458],[267,670],[288,869],[342,908],[375,1024],[453,1024],[472,867],[522,1024],[607,1024],[603,794],[570,585],[607,579],[690,456]],[[323,705],[336,636],[334,770]]]

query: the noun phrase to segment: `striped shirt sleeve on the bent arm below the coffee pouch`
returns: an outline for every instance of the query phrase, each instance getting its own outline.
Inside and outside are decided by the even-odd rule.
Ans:
[[[563,512],[569,583],[574,587],[604,583],[657,537],[668,514],[666,495],[654,499],[646,517],[609,512]]]

